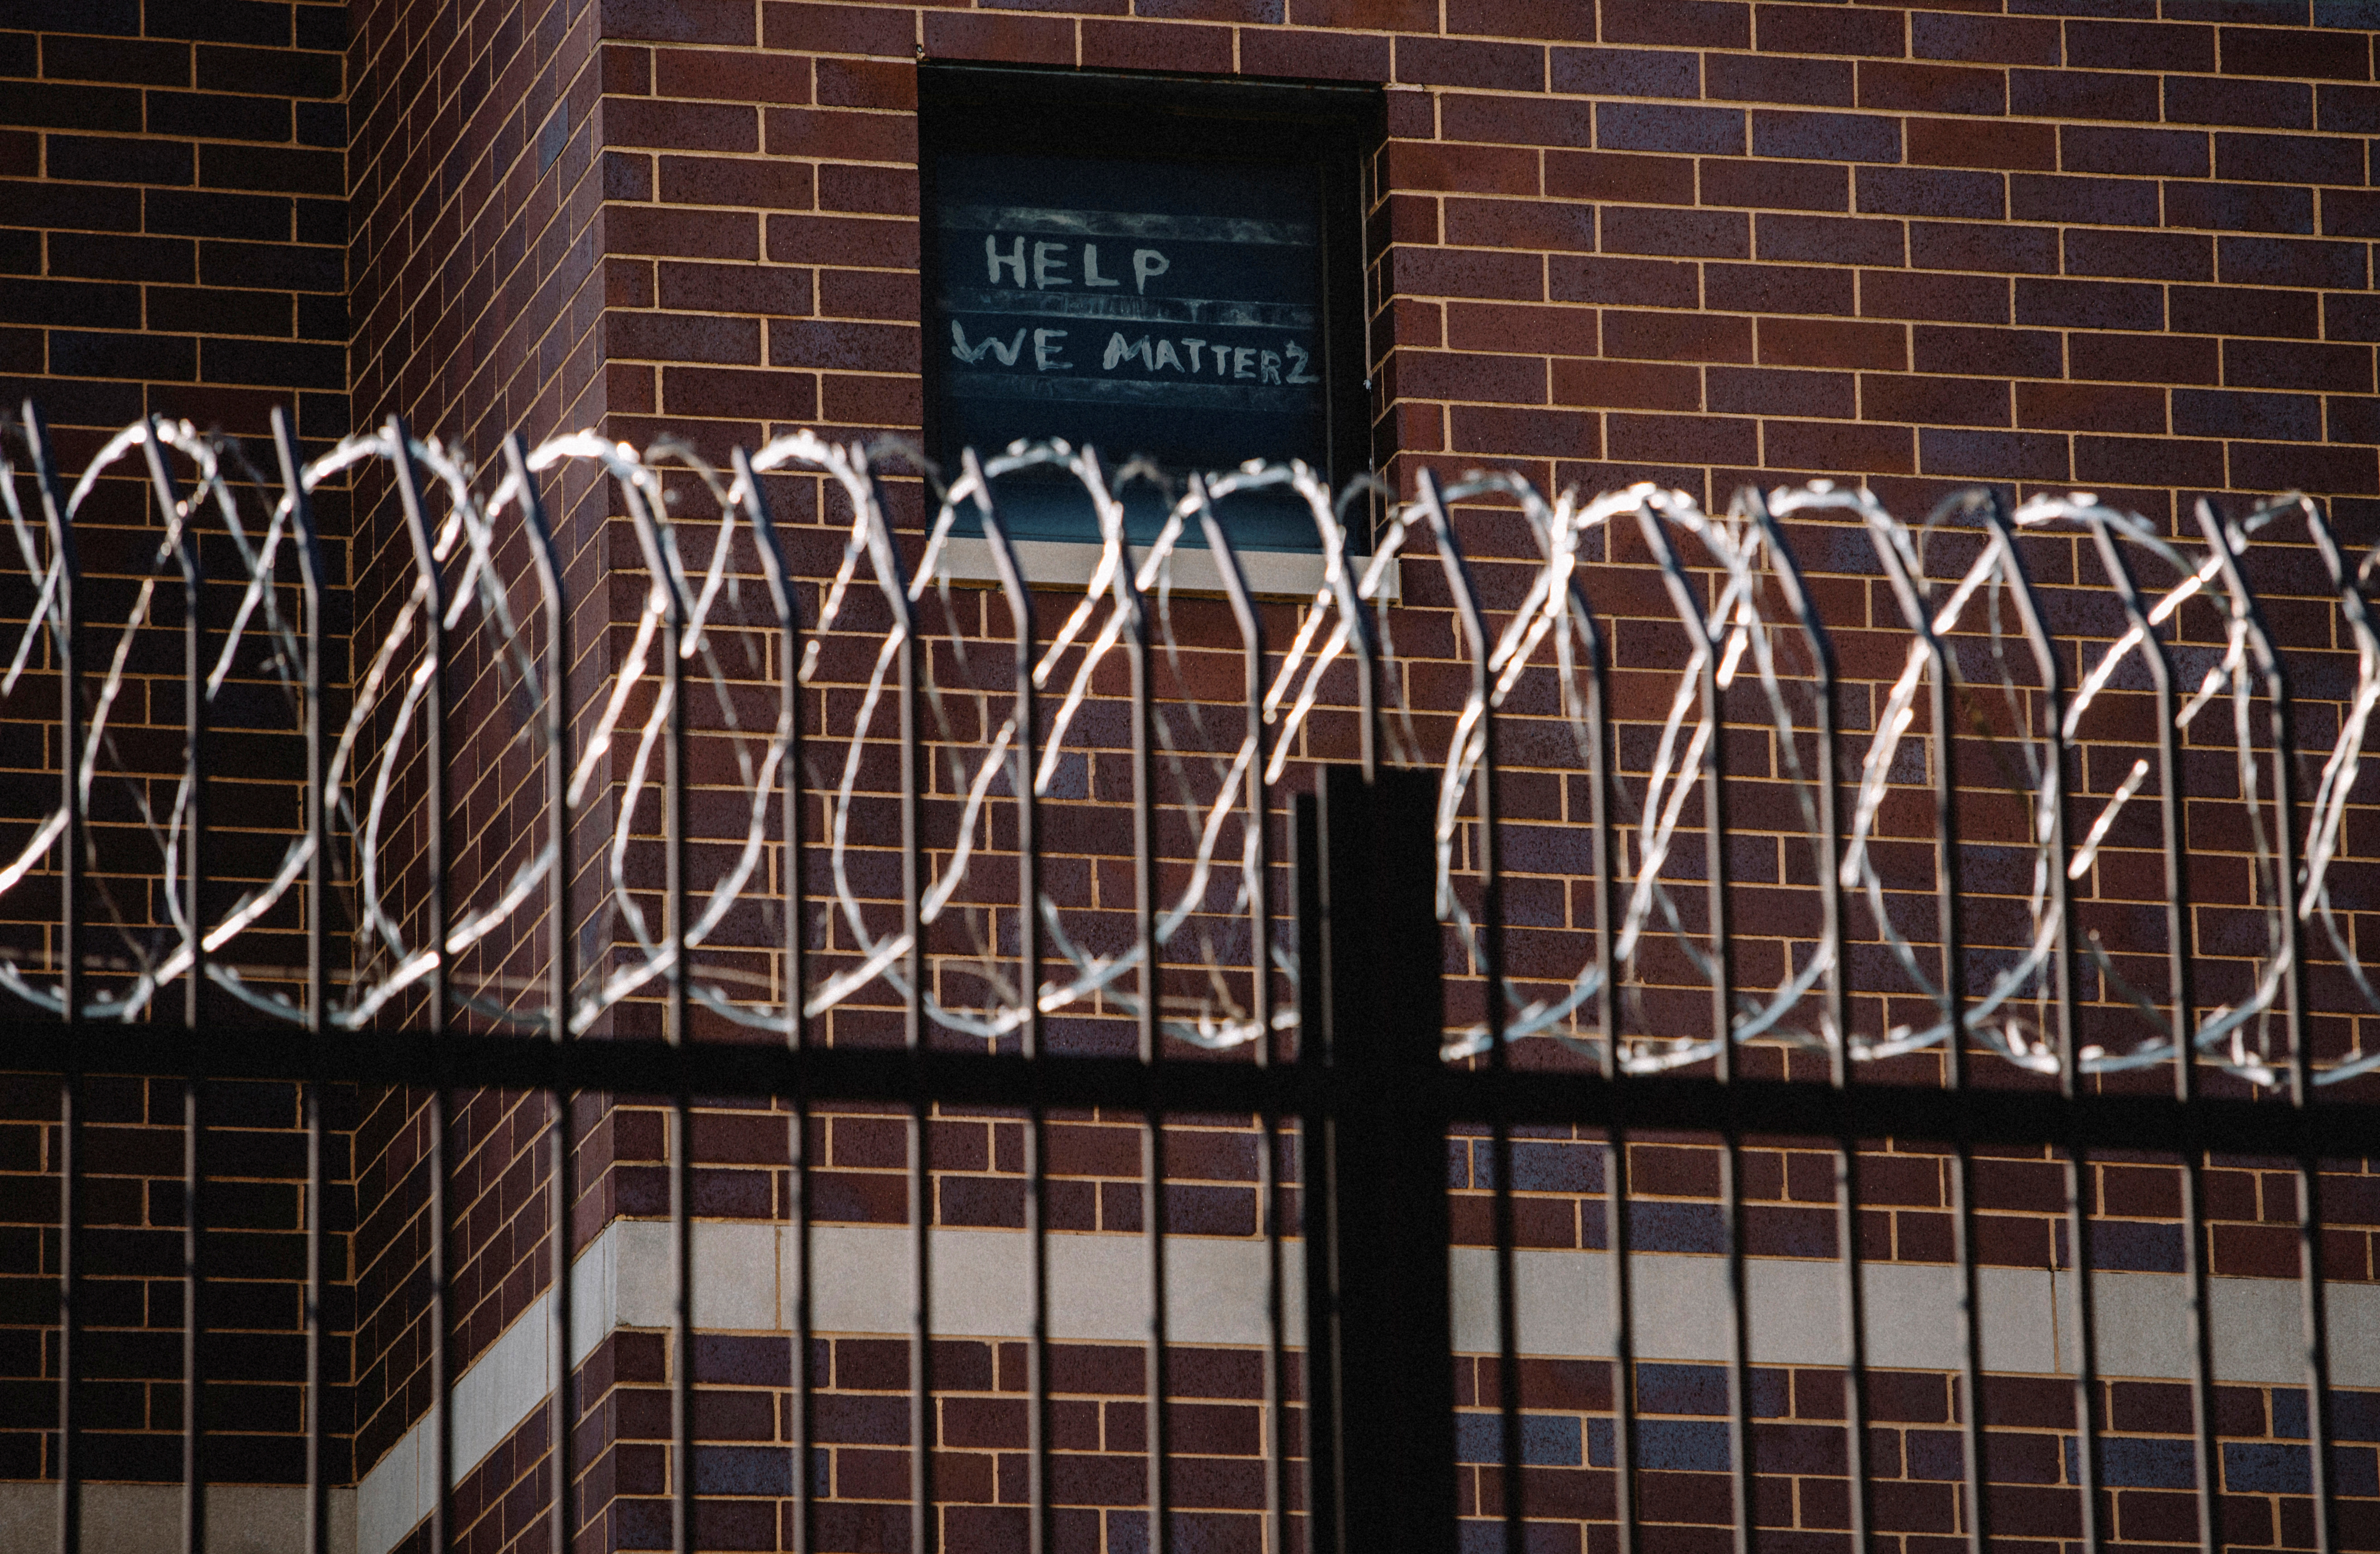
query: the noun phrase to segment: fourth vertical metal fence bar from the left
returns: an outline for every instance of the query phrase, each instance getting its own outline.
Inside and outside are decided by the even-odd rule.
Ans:
[[[438,1490],[431,1497],[431,1549],[447,1554],[455,1547],[455,1356],[450,1352],[450,1302],[452,1302],[452,1237],[455,1204],[447,1183],[455,1176],[452,1142],[447,1138],[447,1076],[445,1042],[450,976],[447,966],[447,802],[445,802],[445,576],[438,571],[438,550],[431,540],[428,512],[421,507],[421,476],[414,466],[414,433],[405,416],[390,416],[383,433],[390,443],[390,466],[397,481],[397,502],[405,509],[405,533],[414,545],[416,588],[428,621],[421,633],[426,659],[421,690],[421,764],[424,764],[424,895],[421,914],[428,940],[428,1009],[424,1023],[431,1047],[438,1054],[438,1083],[431,1085],[428,1140],[424,1154],[431,1164],[431,1406],[436,1409],[436,1471]]]

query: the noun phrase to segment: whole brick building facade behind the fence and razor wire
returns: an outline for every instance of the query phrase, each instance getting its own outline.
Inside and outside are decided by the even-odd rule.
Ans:
[[[992,362],[976,324],[947,336],[950,307],[923,278],[947,259],[935,257],[940,233],[921,212],[957,176],[933,171],[931,155],[935,145],[973,155],[947,140],[935,93],[964,102],[966,81],[997,76],[1031,119],[1035,81],[1050,83],[1052,100],[1090,79],[1121,83],[1121,100],[1190,93],[1192,107],[1197,86],[1304,83],[1361,88],[1349,93],[1361,109],[1347,117],[1361,143],[1347,186],[1330,195],[1352,205],[1357,252],[1330,259],[1330,297],[1352,324],[1314,374],[1321,397],[1352,407],[1333,409],[1340,421],[1328,438],[1340,481],[1376,474],[1409,497],[1423,471],[1454,481],[1495,466],[1545,493],[1654,481],[1723,509],[1747,483],[1828,478],[1864,485],[1906,516],[1978,483],[2018,500],[2085,488],[2166,535],[2197,533],[2199,497],[2244,509],[2294,488],[2361,550],[2380,538],[2375,19],[2356,0],[36,2],[0,19],[0,388],[12,407],[21,397],[43,407],[67,469],[143,414],[269,447],[276,405],[295,409],[307,452],[405,416],[416,436],[490,469],[509,431],[536,443],[581,426],[633,445],[683,438],[712,462],[802,426],[838,440],[895,433],[931,445],[933,414],[947,414],[931,409],[942,405],[938,386],[957,366]],[[1061,138],[1064,126],[1035,133]],[[1047,150],[1019,143],[1019,155]],[[1138,271],[1123,259],[1130,238],[1116,243],[1107,262],[1121,295]],[[1014,252],[1014,290],[1023,293],[1038,259]],[[1095,262],[1059,262],[1090,283]],[[990,278],[1000,276],[995,262]],[[1092,357],[1097,336],[1083,340],[1090,347],[1076,355]],[[1126,331],[1116,340],[1130,345]],[[1009,352],[1023,362],[1040,347]],[[1154,352],[1142,357],[1150,374],[1154,362]],[[1107,371],[1116,366],[1109,359]],[[1128,359],[1121,366],[1130,371]],[[1264,388],[1257,378],[1252,393]],[[1052,414],[1052,433],[1071,431],[1076,412]],[[933,507],[926,483],[900,462],[885,476],[895,528],[921,543]],[[821,485],[771,483],[812,612],[850,526]],[[593,476],[557,476],[547,500],[578,600],[581,669],[590,688],[602,685],[628,657],[640,609],[635,533],[614,488]],[[133,524],[129,505],[145,495],[102,493],[102,502],[117,502],[112,521]],[[359,666],[364,645],[383,640],[405,607],[409,535],[386,476],[364,471],[347,488],[324,488],[317,505],[343,578],[347,657]],[[1523,526],[1492,502],[1459,507],[1457,528],[1483,576],[1535,562]],[[2294,643],[2323,671],[2309,681],[2301,719],[2325,728],[2328,742],[2354,700],[2354,645],[2328,616],[2311,624],[2330,590],[2306,557],[2299,571],[2259,576],[2259,588],[2275,612],[2294,609],[2306,624]],[[1616,616],[1666,609],[1633,540],[1614,538],[1590,559],[1621,600],[1635,600]],[[1283,578],[1311,588],[1283,566]],[[1409,695],[1423,712],[1449,712],[1459,650],[1445,583],[1418,559],[1402,566],[1390,616],[1423,664]],[[1873,576],[1847,564],[1811,571],[1830,590],[1830,614],[1844,612],[1835,619],[1885,624]],[[2090,588],[2080,574],[2042,581],[2068,588],[2066,597]],[[1492,595],[1490,604],[1509,609],[1511,600]],[[1209,626],[1204,645],[1214,647],[1221,626]],[[1276,626],[1283,640],[1295,631],[1288,604]],[[2092,635],[2075,621],[2056,631]],[[1614,654],[1616,669],[1645,671],[1647,685],[1680,664],[1673,640],[1628,631],[1614,633]],[[1847,678],[1864,685],[1864,716],[1883,704],[1897,662],[1847,664]],[[469,673],[457,707],[495,697],[493,664]],[[804,716],[835,726],[862,681],[831,669]],[[1349,700],[1326,697],[1340,709]],[[1659,728],[1661,709],[1621,716],[1645,733]],[[171,723],[167,712],[155,719]],[[1319,719],[1297,769],[1347,759],[1347,731]],[[500,757],[493,745],[466,754],[476,764],[459,778],[464,809],[514,814],[505,795],[519,776]],[[1621,754],[1623,766],[1637,759],[1633,747]],[[597,788],[616,792],[621,781],[609,771]],[[2097,792],[2109,788],[2113,778]],[[1085,795],[1114,790],[1092,773]],[[1561,776],[1518,771],[1509,795],[1511,814],[1547,838],[1580,823],[1578,790]],[[409,823],[424,823],[419,790],[400,797],[405,807]],[[474,833],[464,864],[474,878],[512,866],[507,847],[519,840],[500,831]],[[2209,854],[2237,864],[2221,823],[2204,835],[2225,838],[2221,847],[2209,840]],[[2359,845],[2368,857],[2351,831],[2349,852]],[[1100,857],[1097,842],[1078,852]],[[1554,881],[1557,897],[1578,876],[1559,861],[1514,866]],[[2251,900],[2244,864],[2211,861],[2202,878],[2211,900]],[[1090,861],[1052,890],[1081,890],[1066,904],[1085,909],[1111,904],[1095,902],[1102,885]],[[2109,921],[2159,900],[2144,876],[2090,890]],[[1576,900],[1549,911],[1557,926],[1583,923]],[[2247,964],[2221,940],[2206,954],[2230,973]],[[490,966],[533,973],[533,947],[490,952]],[[2228,976],[2221,966],[2209,978]],[[2344,978],[2323,983],[2320,1000],[2325,1049],[2361,1049]],[[645,1019],[626,1009],[616,1030],[652,1033]],[[1897,1016],[1878,1007],[1878,1028],[1887,1019]],[[438,1233],[426,1185],[433,1145],[424,1092],[362,1090],[347,1104],[336,1128],[331,1326],[340,1483],[355,1497],[340,1504],[355,1547],[386,1554],[424,1547],[436,1499],[424,1295]],[[31,1290],[55,1254],[36,1230],[55,1214],[40,1197],[55,1173],[55,1099],[29,1095],[7,1102],[7,1114],[19,1142],[5,1168],[26,1204],[7,1216],[12,1245],[24,1247],[10,1276]],[[126,1083],[88,1121],[107,1130],[90,1168],[121,1199],[95,1230],[95,1257],[117,1247],[136,1259],[143,1237],[178,1223],[162,1185],[178,1188],[178,1164],[159,1164],[157,1149],[181,1126],[181,1092]],[[219,1138],[252,1149],[240,1176],[255,1188],[226,1209],[248,1216],[245,1240],[224,1242],[217,1280],[269,1311],[257,1318],[257,1345],[221,1359],[226,1378],[252,1387],[224,1406],[252,1406],[255,1418],[226,1414],[219,1475],[257,1497],[226,1492],[217,1516],[283,1530],[298,1525],[281,1492],[293,1483],[298,1430],[286,1337],[302,1204],[283,1149],[295,1121],[295,1088],[257,1088],[250,1111],[217,1123]],[[652,1283],[664,1259],[657,1237],[666,1228],[654,1216],[666,1209],[666,1121],[650,1097],[590,1095],[576,1114],[576,1278],[590,1323],[578,1349],[595,1399],[576,1452],[588,1549],[666,1547],[669,1535],[666,1295]],[[697,1297],[707,1406],[695,1435],[709,1456],[693,1473],[697,1483],[716,1475],[709,1490],[728,1506],[702,1530],[702,1547],[795,1547],[795,1475],[819,1497],[812,1547],[909,1547],[912,1373],[904,1328],[890,1321],[907,1297],[885,1283],[897,1226],[912,1214],[904,1126],[869,1109],[807,1118],[816,1257],[843,1268],[843,1283],[821,1287],[826,1337],[800,1356],[776,1283],[795,1159],[788,1111],[721,1104],[695,1114],[697,1290],[714,1295]],[[538,1190],[543,1099],[471,1095],[450,1128],[462,1161],[450,1188],[450,1342],[462,1378],[455,1533],[474,1549],[545,1547],[550,1454],[536,1406],[545,1371],[531,1321],[547,1309],[552,1280],[540,1261],[550,1245]],[[1257,1549],[1269,1425],[1250,1259],[1261,1259],[1269,1216],[1292,1214],[1295,1185],[1280,1204],[1259,1202],[1266,1142],[1250,1126],[1185,1118],[1169,1135],[1169,1221],[1188,1247],[1183,1266],[1204,1280],[1192,1280],[1190,1304],[1207,1304],[1173,1366],[1173,1449],[1185,1464],[1176,1537],[1180,1547]],[[1483,1549],[1499,1547],[1497,1449],[1476,1425],[1495,1418],[1483,1411],[1495,1404],[1492,1361],[1478,1359],[1495,1347],[1492,1297],[1483,1295],[1495,1202],[1485,1149],[1471,1135],[1449,1142],[1457,1347],[1473,1356],[1457,1380],[1461,1509]],[[938,1535],[952,1554],[1021,1549],[1023,1333],[997,1297],[1012,1280],[1009,1226],[1021,1223],[1021,1123],[945,1109],[931,1121],[931,1154],[928,1214],[952,1237],[942,1266],[973,1268],[992,1292],[978,1302],[985,1309],[952,1311],[954,1337],[935,1356]],[[1147,1504],[1147,1383],[1135,1345],[1145,1290],[1114,1273],[1102,1247],[1142,1230],[1142,1126],[1061,1116],[1042,1159],[1050,1223],[1066,1233],[1057,1273],[1076,1290],[1054,1328],[1057,1544],[1123,1554],[1150,1542],[1147,1514],[1135,1511]],[[1861,1252],[1909,1314],[1947,1299],[1947,1161],[1940,1149],[1887,1140],[1861,1154]],[[1516,1237],[1542,1290],[1521,1328],[1533,1554],[1540,1542],[1547,1554],[1611,1547],[1611,1368],[1602,1340],[1580,1335],[1592,1323],[1576,1304],[1599,1266],[1606,1168],[1606,1145],[1590,1130],[1514,1145]],[[2380,1278],[2380,1188],[2368,1159],[2325,1171],[2323,1273],[2340,1290],[2335,1309],[2380,1323],[2380,1307],[2366,1302]],[[1723,1504],[1714,1506],[1726,1468],[1714,1423],[1723,1404],[1711,1406],[1721,1373],[1711,1328],[1695,1311],[1711,1299],[1697,1283],[1709,1259],[1697,1257],[1709,1249],[1718,1149],[1647,1138],[1630,1145],[1630,1173],[1649,1204],[1637,1245],[1671,1278],[1656,1287],[1640,1352],[1654,1361],[1637,1383],[1645,1452],[1656,1452],[1640,1456],[1647,1542],[1716,1549],[1728,1540]],[[2111,1454],[2104,1480],[2111,1537],[2123,1544],[2199,1537],[2187,1454],[2178,1468],[2173,1449],[2190,1433],[2185,1373],[2166,1347],[2178,1333],[2171,1280],[2182,1268],[2178,1178],[2156,1159],[2092,1166],[2102,1266],[2144,1280],[2109,1285],[2132,1292],[2125,1311],[2137,1321],[2128,1359],[2104,1366],[2106,1428],[2135,1442]],[[1840,1445],[1828,1445],[1842,1421],[1840,1368],[1825,1359],[1833,1316],[1811,1316],[1806,1333],[1792,1326],[1816,1311],[1792,1283],[1795,1259],[1835,1252],[1833,1157],[1756,1142],[1742,1152],[1740,1183],[1759,1278],[1773,1278],[1756,1280],[1754,1297],[1780,1323],[1756,1349],[1756,1542],[1847,1547],[1844,1468]],[[2063,1166],[2042,1152],[1985,1154],[1973,1192],[1994,1371],[1983,1406],[1997,1537],[2049,1549],[2078,1537],[2078,1478],[2061,1456],[2071,1447],[2059,1445],[2073,1430],[2071,1335],[2061,1337],[2054,1311],[2073,1261]],[[2221,1537],[2237,1547],[2311,1547],[2304,1449],[2292,1447],[2304,1440],[2294,1423],[2304,1392],[2292,1390],[2285,1345],[2259,1347],[2278,1321],[2271,1314],[2294,1299],[2294,1216],[2285,1164],[2221,1159],[2209,1168],[2202,1254],[2237,1302],[2216,1337]],[[109,1373],[112,1414],[93,1425],[114,1452],[95,1459],[105,1464],[95,1475],[121,1490],[109,1516],[148,1516],[140,1495],[171,1480],[178,1461],[171,1364],[145,1342],[178,1323],[164,1295],[171,1280],[155,1278],[148,1304],[131,1297],[140,1283],[121,1280],[131,1304],[109,1318],[126,1335]],[[226,1316],[226,1326],[240,1323]],[[0,1516],[17,1518],[0,1521],[0,1542],[17,1528],[38,1535],[45,1502],[29,1485],[55,1471],[55,1435],[38,1423],[36,1397],[45,1397],[48,1361],[26,1337],[38,1328],[29,1316],[12,1330],[24,1342],[10,1387],[21,1387],[26,1423],[0,1435],[0,1478],[24,1495],[0,1499]],[[2361,1342],[2351,1354],[2342,1342],[2342,1387],[2380,1387],[2380,1368],[2354,1368],[2380,1366],[2368,1330]],[[1906,1554],[1933,1554],[1971,1525],[1952,1461],[1954,1356],[1923,1316],[1890,1345],[1890,1359],[1875,1361],[1890,1378],[1871,1378],[1875,1533]],[[788,1397],[804,1364],[819,1447],[812,1464],[795,1464]],[[1716,1385],[1723,1399],[1723,1376]],[[233,1397],[228,1380],[221,1395]],[[2342,1399],[2342,1547],[2380,1547],[2368,1445],[2380,1437],[2380,1406],[2373,1392]],[[259,1547],[283,1547],[269,1537],[259,1533]]]

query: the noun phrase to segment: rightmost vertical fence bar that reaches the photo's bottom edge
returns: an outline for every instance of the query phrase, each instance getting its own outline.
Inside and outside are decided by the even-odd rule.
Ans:
[[[2230,612],[2247,635],[2263,671],[2273,719],[2273,919],[2280,928],[2282,1023],[2290,1040],[2290,1104],[2304,1116],[2313,1107],[2313,1049],[2306,1035],[2306,971],[2297,952],[2297,726],[2290,704],[2290,671],[2263,626],[2256,595],[2240,571],[2223,519],[2204,497],[2197,505],[2199,531],[2223,569]],[[2330,1554],[2337,1547],[2337,1485],[2330,1473],[2330,1326],[2323,1292],[2323,1161],[2311,1128],[2301,1130],[2297,1152],[2297,1285],[2304,1307],[2306,1340],[2306,1456],[2313,1487],[2313,1547]]]

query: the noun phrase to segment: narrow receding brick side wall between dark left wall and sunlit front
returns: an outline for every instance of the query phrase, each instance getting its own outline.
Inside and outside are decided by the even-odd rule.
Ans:
[[[352,5],[347,262],[357,297],[357,424],[402,414],[414,436],[493,464],[507,431],[538,440],[602,419],[597,31],[595,7],[562,0]],[[602,581],[602,495],[585,509],[588,490],[593,483],[557,481],[545,500],[574,597],[585,604],[576,643],[593,681],[605,673],[614,602]],[[357,505],[367,535],[355,562],[357,633],[376,643],[412,585],[414,562],[383,471],[364,474]],[[526,552],[507,550],[507,566],[526,574]],[[533,840],[526,826],[502,823],[507,807],[521,802],[507,797],[519,781],[507,762],[521,752],[486,731],[505,695],[493,654],[469,638],[457,638],[450,652],[450,738],[459,745],[452,745],[445,823],[462,902],[476,883],[509,876]],[[419,762],[400,792],[397,823],[419,838],[431,823]],[[419,909],[419,892],[412,900]],[[412,930],[419,935],[419,919]],[[538,976],[533,940],[481,947],[466,973],[481,969]],[[357,1214],[367,1226],[357,1266],[364,1466],[431,1404],[424,1268],[436,1223],[426,1107],[424,1092],[367,1095],[357,1133]],[[457,1373],[550,1273],[550,1259],[540,1261],[545,1118],[543,1097],[462,1092],[452,1102]]]

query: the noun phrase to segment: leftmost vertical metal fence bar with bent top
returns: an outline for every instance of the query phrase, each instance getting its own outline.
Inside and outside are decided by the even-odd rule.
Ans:
[[[81,1197],[83,1197],[83,1076],[81,1076],[81,1021],[83,1021],[83,664],[76,650],[74,585],[81,578],[74,554],[74,521],[57,500],[57,471],[50,464],[50,428],[40,419],[33,400],[24,402],[24,440],[33,464],[33,485],[40,493],[40,524],[50,535],[50,564],[57,566],[57,597],[52,600],[55,647],[57,647],[57,804],[67,816],[60,835],[57,864],[57,1000],[64,1021],[67,1071],[57,1085],[57,1547],[60,1554],[79,1554],[83,1544],[83,1454],[81,1454]]]

